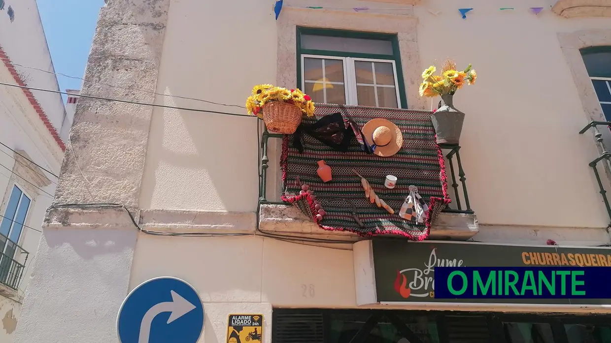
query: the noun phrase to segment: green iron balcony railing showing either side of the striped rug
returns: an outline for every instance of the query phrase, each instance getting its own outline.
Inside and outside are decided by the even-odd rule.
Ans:
[[[270,141],[269,139],[283,139],[284,134],[276,134],[269,132],[262,125],[262,134],[259,146],[259,204],[285,204],[290,205],[287,201],[270,201],[269,198],[278,198],[277,195],[269,196],[268,182],[277,182],[279,180],[268,180],[268,169],[270,167],[270,161],[279,161],[280,156],[273,156],[276,158],[270,159],[268,155]],[[473,209],[470,206],[469,194],[467,192],[467,178],[463,168],[463,164],[460,156],[461,146],[458,144],[439,144],[442,153],[445,157],[445,173],[447,176],[447,193],[448,197],[452,199],[452,202],[442,212],[450,213],[461,213],[461,214],[474,214]],[[273,165],[273,168],[280,168],[279,165]]]

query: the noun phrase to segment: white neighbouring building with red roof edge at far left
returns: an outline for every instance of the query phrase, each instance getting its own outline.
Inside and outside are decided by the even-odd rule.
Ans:
[[[35,0],[0,1],[0,342],[12,342],[71,118]],[[65,134],[60,134],[65,132]]]

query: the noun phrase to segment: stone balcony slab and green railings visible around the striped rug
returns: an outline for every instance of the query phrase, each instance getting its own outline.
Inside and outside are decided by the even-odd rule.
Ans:
[[[318,114],[316,116],[320,117]],[[297,206],[280,200],[282,172],[279,161],[282,139],[285,137],[268,132],[262,121],[260,128],[258,229],[264,233],[295,233],[302,237],[332,236],[348,242],[361,239],[356,233],[321,229]],[[452,201],[431,224],[428,239],[467,240],[479,230],[477,217],[470,207],[467,178],[459,152],[461,147],[439,145],[439,148],[445,157],[447,195]]]

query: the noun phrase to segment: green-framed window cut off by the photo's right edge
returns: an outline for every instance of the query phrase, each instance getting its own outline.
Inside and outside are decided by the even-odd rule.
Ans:
[[[580,52],[602,113],[611,120],[611,46],[590,46]]]

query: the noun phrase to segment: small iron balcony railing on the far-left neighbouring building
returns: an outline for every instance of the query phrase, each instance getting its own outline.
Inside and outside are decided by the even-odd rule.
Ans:
[[[19,288],[23,278],[24,266],[29,253],[6,236],[0,234],[0,284],[14,289]]]

